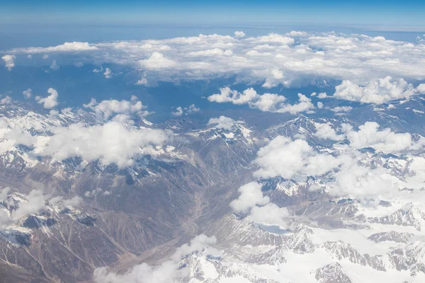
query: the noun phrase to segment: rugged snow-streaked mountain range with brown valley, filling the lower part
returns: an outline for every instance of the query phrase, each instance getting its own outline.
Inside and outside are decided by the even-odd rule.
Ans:
[[[424,120],[406,107],[423,103],[223,126],[2,105],[1,280],[424,282]],[[199,234],[215,241],[184,245]]]

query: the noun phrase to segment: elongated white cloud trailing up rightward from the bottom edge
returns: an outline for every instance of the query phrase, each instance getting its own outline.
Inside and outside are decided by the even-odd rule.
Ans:
[[[184,255],[200,252],[205,250],[205,255],[210,255],[209,252],[216,253],[213,248],[208,246],[216,243],[214,236],[208,237],[200,234],[191,240],[191,243],[184,244],[177,248],[176,252],[171,255],[169,260],[162,262],[160,265],[152,266],[147,263],[136,265],[128,272],[118,274],[108,272],[107,267],[101,267],[94,270],[94,281],[99,283],[169,283],[182,282],[183,277],[188,275],[188,267],[180,266],[179,262]]]

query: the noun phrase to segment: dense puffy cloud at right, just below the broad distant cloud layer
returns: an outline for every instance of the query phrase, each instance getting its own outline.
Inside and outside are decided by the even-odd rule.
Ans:
[[[334,98],[358,101],[361,103],[382,104],[400,98],[409,98],[417,94],[412,83],[404,79],[392,81],[391,76],[384,79],[369,81],[364,86],[359,86],[352,81],[342,81],[335,87]]]

